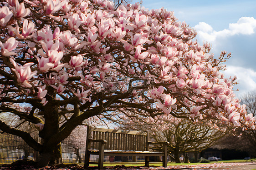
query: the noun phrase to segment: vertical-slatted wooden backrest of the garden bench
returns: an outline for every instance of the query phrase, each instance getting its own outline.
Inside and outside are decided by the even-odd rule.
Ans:
[[[87,126],[87,139],[106,140],[105,150],[148,150],[148,132],[114,130]],[[87,149],[98,150],[98,142],[88,142]]]

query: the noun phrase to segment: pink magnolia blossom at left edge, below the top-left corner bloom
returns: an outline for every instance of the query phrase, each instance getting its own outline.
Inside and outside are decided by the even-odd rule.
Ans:
[[[19,42],[15,40],[14,37],[10,37],[6,40],[5,44],[0,41],[1,54],[5,56],[16,55],[17,53],[11,51],[14,50],[18,44]]]

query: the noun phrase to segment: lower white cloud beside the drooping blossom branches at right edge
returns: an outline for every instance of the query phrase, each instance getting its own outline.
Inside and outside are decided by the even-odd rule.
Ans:
[[[248,91],[256,89],[256,72],[252,69],[243,67],[227,66],[227,70],[224,71],[225,77],[237,76],[238,85],[234,87],[234,90],[239,89],[236,95],[240,96]]]

